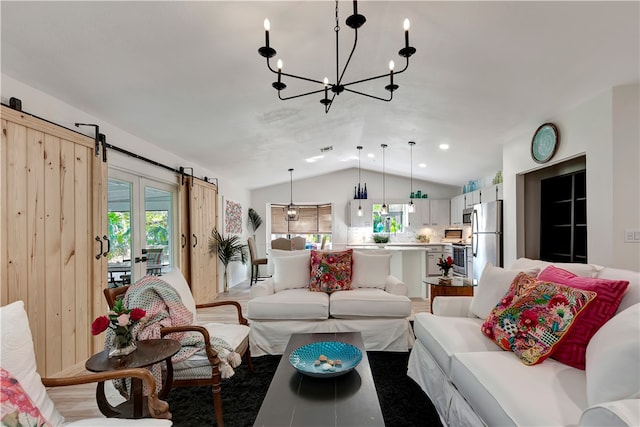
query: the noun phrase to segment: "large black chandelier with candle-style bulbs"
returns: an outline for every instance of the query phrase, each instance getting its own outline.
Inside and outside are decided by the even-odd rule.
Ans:
[[[258,53],[261,56],[263,56],[264,58],[267,58],[267,67],[269,68],[269,70],[271,70],[272,73],[278,75],[278,81],[273,82],[273,84],[272,84],[274,89],[276,89],[278,91],[278,98],[280,98],[281,100],[284,101],[284,100],[287,100],[287,99],[300,98],[302,96],[313,95],[313,94],[316,94],[316,93],[324,92],[324,98],[322,98],[320,100],[320,103],[324,105],[324,112],[325,113],[329,112],[329,109],[331,108],[331,104],[333,104],[333,100],[335,99],[336,95],[340,95],[344,91],[351,92],[351,93],[356,93],[358,95],[367,96],[369,98],[378,99],[380,101],[387,101],[387,102],[391,101],[393,99],[393,92],[396,89],[398,89],[398,87],[399,87],[397,84],[393,83],[393,75],[394,74],[403,73],[409,67],[409,57],[411,55],[413,55],[414,53],[416,53],[416,49],[414,47],[409,46],[409,20],[408,19],[404,20],[404,47],[402,49],[400,49],[400,51],[398,52],[398,54],[401,57],[406,59],[406,64],[405,64],[405,66],[404,66],[404,68],[402,70],[394,71],[395,64],[394,64],[393,61],[389,61],[389,73],[387,73],[387,74],[381,74],[379,76],[369,77],[367,79],[357,80],[357,81],[353,81],[353,82],[349,82],[349,83],[343,83],[342,78],[344,77],[344,73],[347,70],[347,67],[349,66],[349,62],[351,61],[351,57],[353,56],[353,53],[355,52],[356,46],[358,44],[358,28],[363,26],[366,21],[367,21],[367,19],[363,15],[360,15],[358,13],[358,2],[357,2],[357,0],[353,0],[353,15],[349,16],[347,18],[347,20],[346,20],[346,24],[354,30],[353,47],[351,48],[351,53],[349,54],[349,58],[347,59],[347,62],[344,64],[344,68],[342,69],[342,72],[340,72],[340,64],[339,64],[340,23],[339,23],[339,19],[338,19],[338,0],[336,0],[336,26],[334,28],[334,31],[336,33],[336,79],[335,79],[335,83],[329,83],[329,79],[327,77],[324,78],[324,81],[319,81],[319,80],[310,79],[310,78],[307,78],[307,77],[296,76],[294,74],[283,73],[282,72],[282,60],[280,60],[280,59],[278,60],[278,62],[276,64],[277,70],[274,70],[273,67],[271,67],[271,63],[269,62],[269,59],[273,58],[276,55],[276,50],[273,49],[271,46],[269,46],[269,30],[270,30],[271,24],[269,23],[268,19],[265,19],[264,20],[264,30],[265,30],[265,44],[266,45],[262,46],[260,49],[258,49]],[[281,91],[286,89],[287,85],[282,82],[282,76],[291,77],[291,78],[299,79],[299,80],[306,80],[306,81],[312,82],[312,83],[318,83],[318,84],[322,85],[322,88],[318,89],[318,90],[313,90],[311,92],[301,93],[299,95],[292,95],[292,96],[283,97],[282,94],[281,94]],[[371,95],[371,94],[368,94],[368,93],[360,92],[360,91],[357,91],[357,90],[351,88],[351,86],[356,85],[358,83],[368,82],[370,80],[381,79],[381,78],[385,78],[385,77],[389,78],[389,84],[384,87],[386,90],[389,91],[389,98],[381,98],[379,96],[375,96],[375,95]],[[329,98],[329,93],[328,93],[329,89],[331,89],[331,92],[333,92],[331,98]]]

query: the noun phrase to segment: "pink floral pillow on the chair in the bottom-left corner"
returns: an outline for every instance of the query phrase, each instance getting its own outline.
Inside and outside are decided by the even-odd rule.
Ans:
[[[3,426],[51,427],[20,382],[0,368],[0,422]]]

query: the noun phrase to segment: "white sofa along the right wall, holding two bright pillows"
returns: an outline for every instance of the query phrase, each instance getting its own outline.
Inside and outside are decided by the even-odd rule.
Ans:
[[[445,425],[640,425],[640,273],[554,264],[577,276],[629,281],[614,316],[587,339],[584,370],[553,354],[525,365],[481,332],[509,277],[524,270],[539,276],[549,264],[521,258],[509,270],[488,266],[473,297],[438,297],[434,314],[416,315],[408,375]]]

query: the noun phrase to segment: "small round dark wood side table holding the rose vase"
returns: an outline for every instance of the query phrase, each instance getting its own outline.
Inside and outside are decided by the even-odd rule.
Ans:
[[[173,381],[173,365],[171,357],[180,350],[180,342],[170,339],[136,341],[137,350],[131,354],[109,358],[109,349],[96,353],[85,363],[85,368],[92,372],[117,371],[125,368],[144,368],[163,360],[167,364],[167,379],[164,387],[171,387]],[[167,389],[168,391],[168,389]],[[131,379],[131,398],[118,405],[111,406],[104,393],[104,381],[96,387],[96,401],[100,412],[106,417],[148,418],[147,398],[142,395],[142,380]]]

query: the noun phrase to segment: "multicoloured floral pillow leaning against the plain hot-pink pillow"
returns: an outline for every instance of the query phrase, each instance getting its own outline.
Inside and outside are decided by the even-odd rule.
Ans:
[[[482,324],[482,332],[525,365],[551,356],[595,292],[519,274]]]

